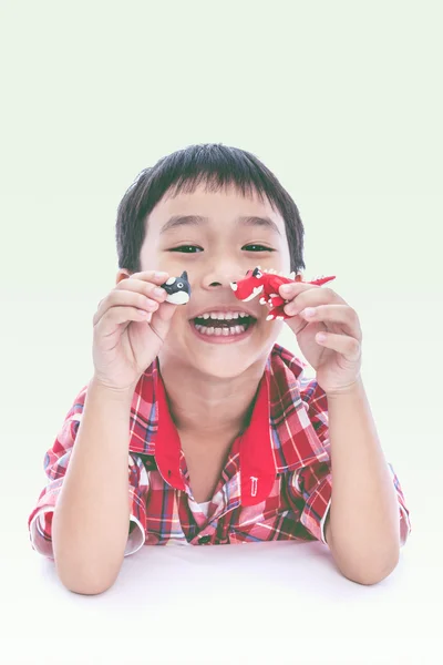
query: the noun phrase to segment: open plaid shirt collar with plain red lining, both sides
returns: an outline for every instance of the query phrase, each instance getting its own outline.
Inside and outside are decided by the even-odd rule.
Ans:
[[[259,382],[246,430],[236,439],[231,453],[239,452],[241,504],[266,499],[277,473],[296,470],[326,459],[300,395],[302,364],[287,349],[275,345]],[[306,382],[306,379],[305,379]],[[311,388],[312,386],[312,388]],[[316,388],[312,380],[306,392]],[[181,469],[181,441],[169,413],[158,359],[142,375],[134,391],[131,412],[130,451],[153,456],[163,479],[185,490]]]

